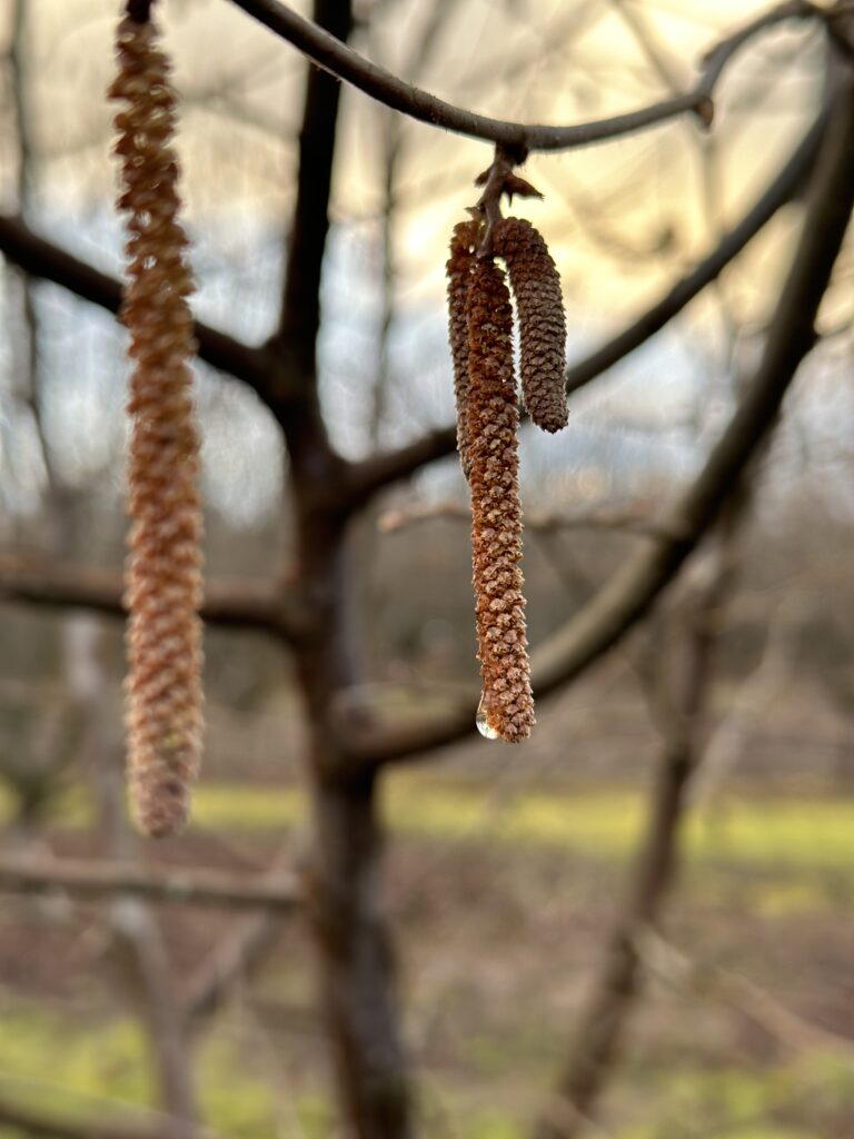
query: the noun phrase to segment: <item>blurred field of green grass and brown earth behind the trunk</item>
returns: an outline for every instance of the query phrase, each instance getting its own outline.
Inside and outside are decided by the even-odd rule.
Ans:
[[[407,771],[387,781],[383,812],[426,1133],[516,1139],[565,1052],[642,834],[643,793],[478,787]],[[91,817],[87,794],[69,788],[49,833],[59,846],[63,835],[73,843]],[[203,784],[187,842],[195,865],[208,843],[269,852],[304,819],[297,789]],[[821,1018],[837,998],[854,1001],[851,972],[835,993],[854,932],[853,854],[854,800],[729,792],[687,820],[666,925],[681,947],[736,962],[774,1000],[807,1018],[814,1006]],[[174,912],[163,911],[167,928],[197,920]],[[284,942],[199,1035],[200,1099],[217,1133],[329,1134],[311,952],[298,928]],[[153,1103],[145,1036],[105,999],[97,969],[64,1003],[1,992],[0,1093],[80,1120]],[[748,1031],[738,1009],[716,1000],[651,985],[606,1097],[605,1133],[851,1139],[854,1030],[849,1051],[838,1024],[832,1047],[820,1034],[794,1047]]]

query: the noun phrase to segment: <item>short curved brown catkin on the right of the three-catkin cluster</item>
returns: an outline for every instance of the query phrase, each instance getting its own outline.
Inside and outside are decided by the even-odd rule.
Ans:
[[[496,222],[492,244],[507,262],[519,316],[522,394],[543,431],[566,427],[566,317],[560,277],[541,233],[529,221]]]

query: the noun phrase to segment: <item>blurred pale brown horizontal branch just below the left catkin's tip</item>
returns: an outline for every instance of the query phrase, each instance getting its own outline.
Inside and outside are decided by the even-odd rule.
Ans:
[[[0,890],[18,894],[66,891],[76,898],[112,899],[133,894],[167,906],[211,906],[229,910],[288,912],[302,906],[294,875],[248,879],[220,870],[162,870],[133,862],[74,859],[23,861],[0,859]]]

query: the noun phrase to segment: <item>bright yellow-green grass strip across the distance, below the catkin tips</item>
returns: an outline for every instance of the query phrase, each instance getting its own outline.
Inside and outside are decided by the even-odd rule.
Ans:
[[[11,797],[0,789],[0,822]],[[471,839],[522,846],[556,846],[597,859],[622,859],[637,846],[646,801],[635,790],[523,790],[493,801],[488,792],[421,775],[393,776],[384,794],[391,830],[437,842]],[[294,787],[204,784],[196,789],[198,830],[277,831],[305,818],[305,797]],[[65,828],[92,820],[89,796],[71,788],[56,804]],[[854,868],[854,798],[730,796],[685,822],[687,852],[696,862],[750,867]]]

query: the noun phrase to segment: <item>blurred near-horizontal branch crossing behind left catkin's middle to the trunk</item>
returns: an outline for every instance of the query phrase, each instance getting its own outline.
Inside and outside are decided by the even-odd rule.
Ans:
[[[0,600],[48,608],[93,609],[124,617],[124,584],[109,571],[80,566],[32,565],[0,557]],[[269,588],[246,581],[205,587],[202,617],[208,624],[232,629],[257,629],[287,644],[298,644],[309,632],[305,612],[277,598]]]

